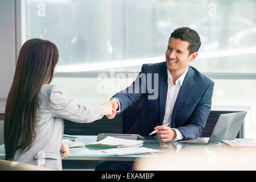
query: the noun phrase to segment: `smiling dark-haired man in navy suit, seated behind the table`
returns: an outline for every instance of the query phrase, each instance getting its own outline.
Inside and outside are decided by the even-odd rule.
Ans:
[[[144,113],[129,133],[148,136],[151,131],[159,130],[156,134],[162,142],[200,137],[212,106],[214,86],[212,80],[189,66],[196,59],[200,46],[196,31],[188,27],[174,30],[169,38],[165,62],[143,64],[135,82],[111,98],[116,112],[107,117],[114,118],[116,113],[124,111],[145,94]],[[153,85],[159,87],[155,93],[152,92]],[[168,123],[168,126],[162,126]],[[105,169],[115,170],[120,162],[117,163],[113,162]],[[131,165],[122,163],[120,169],[131,169],[127,168]]]

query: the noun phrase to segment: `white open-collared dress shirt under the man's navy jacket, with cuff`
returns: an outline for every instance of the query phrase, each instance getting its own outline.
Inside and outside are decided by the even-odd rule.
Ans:
[[[172,76],[170,75],[170,71],[167,68],[167,75],[168,75],[168,91],[167,91],[167,96],[166,96],[166,104],[165,104],[165,114],[164,114],[164,121],[162,122],[162,125],[165,125],[167,123],[172,122],[172,112],[173,112],[173,107],[175,105],[175,102],[178,97],[178,93],[180,92],[180,88],[182,86],[182,83],[184,81],[184,78],[186,76],[186,73],[188,73],[189,67],[186,69],[186,71],[178,77],[178,79],[175,82],[175,85],[173,84],[173,79]],[[168,125],[170,128],[171,124]],[[174,129],[176,131],[176,138],[173,141],[181,140],[184,138],[184,136],[180,133],[179,130]]]

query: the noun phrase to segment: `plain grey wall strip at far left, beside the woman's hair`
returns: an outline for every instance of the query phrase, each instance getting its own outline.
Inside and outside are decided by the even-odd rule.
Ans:
[[[15,1],[0,1],[0,98],[6,98],[15,71]]]

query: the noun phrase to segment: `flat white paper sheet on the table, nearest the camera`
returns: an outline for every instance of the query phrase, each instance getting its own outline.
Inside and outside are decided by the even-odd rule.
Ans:
[[[146,147],[130,147],[130,148],[111,148],[107,150],[101,150],[108,154],[115,155],[129,155],[129,154],[143,154],[148,152],[162,152],[161,150],[146,148]]]

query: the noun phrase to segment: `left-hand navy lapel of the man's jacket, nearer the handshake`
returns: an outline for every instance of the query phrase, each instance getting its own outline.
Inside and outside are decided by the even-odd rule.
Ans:
[[[160,106],[160,124],[164,120],[165,104],[167,96],[167,68],[166,63],[162,66],[161,72],[159,73],[159,106]]]

